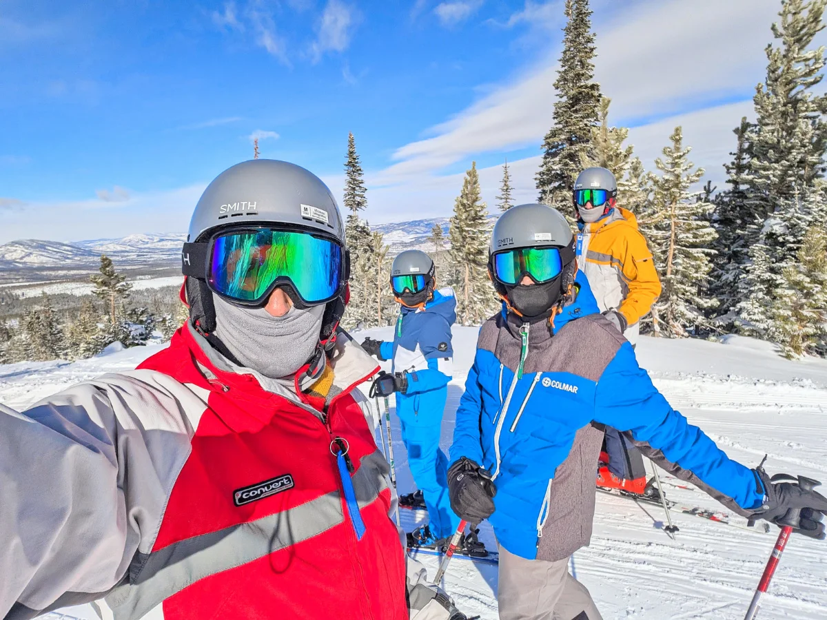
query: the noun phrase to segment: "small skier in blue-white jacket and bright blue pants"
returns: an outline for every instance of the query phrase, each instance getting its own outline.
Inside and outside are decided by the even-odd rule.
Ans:
[[[430,548],[442,546],[460,522],[448,498],[447,456],[439,448],[452,376],[451,326],[457,320],[457,300],[450,288],[435,290],[435,271],[423,251],[401,252],[390,270],[391,289],[399,302],[394,340],[366,338],[361,345],[380,360],[393,360],[392,375],[380,376],[375,386],[381,396],[395,393],[408,464],[420,489],[400,503],[428,508],[428,525],[409,533],[408,544]],[[479,553],[481,548],[471,532],[461,552]]]

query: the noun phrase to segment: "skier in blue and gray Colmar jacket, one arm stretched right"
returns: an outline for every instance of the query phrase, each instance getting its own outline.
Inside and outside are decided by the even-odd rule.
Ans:
[[[730,460],[657,392],[598,312],[560,213],[541,204],[505,212],[489,269],[503,310],[480,329],[448,485],[460,517],[494,527],[501,620],[601,618],[567,571],[591,535],[594,492],[583,489],[594,488],[602,436],[593,422],[632,432],[742,513],[774,522],[803,508],[797,531],[825,537],[827,499]]]

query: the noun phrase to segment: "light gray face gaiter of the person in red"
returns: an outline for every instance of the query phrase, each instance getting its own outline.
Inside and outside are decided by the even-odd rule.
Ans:
[[[318,344],[324,305],[290,308],[273,317],[264,308],[241,308],[213,295],[215,335],[251,370],[270,379],[295,374],[307,364]]]

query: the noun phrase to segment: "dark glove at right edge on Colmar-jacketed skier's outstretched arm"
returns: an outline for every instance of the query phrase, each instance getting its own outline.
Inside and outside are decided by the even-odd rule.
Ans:
[[[761,465],[753,471],[761,479],[767,496],[750,522],[766,519],[778,527],[788,525],[795,532],[810,538],[825,539],[825,524],[821,521],[827,513],[827,498],[813,490],[820,482],[786,474],[776,474],[770,478]]]

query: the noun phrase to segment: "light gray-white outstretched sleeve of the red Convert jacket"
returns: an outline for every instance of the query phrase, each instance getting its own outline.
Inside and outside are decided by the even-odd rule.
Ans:
[[[98,599],[151,551],[206,407],[197,390],[136,370],[23,413],[0,405],[0,618]]]

